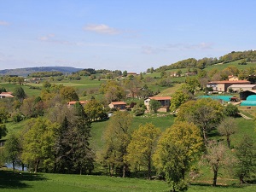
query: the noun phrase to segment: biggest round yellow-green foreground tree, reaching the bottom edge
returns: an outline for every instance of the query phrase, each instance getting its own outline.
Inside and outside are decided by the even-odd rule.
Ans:
[[[173,191],[187,189],[185,173],[201,153],[200,129],[192,123],[177,122],[160,137],[154,154],[154,165],[164,172]]]

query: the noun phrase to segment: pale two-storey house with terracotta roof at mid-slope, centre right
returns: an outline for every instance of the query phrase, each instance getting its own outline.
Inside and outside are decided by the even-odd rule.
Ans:
[[[168,112],[170,110],[170,106],[171,106],[171,98],[172,98],[171,96],[150,96],[150,97],[148,97],[148,99],[146,99],[144,101],[144,105],[149,110],[150,101],[156,100],[156,101],[160,102],[160,104],[161,104],[161,107],[158,111],[159,112]]]

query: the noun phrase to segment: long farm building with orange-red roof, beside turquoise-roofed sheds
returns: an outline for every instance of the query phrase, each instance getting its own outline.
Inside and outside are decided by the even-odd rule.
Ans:
[[[228,87],[232,84],[251,84],[247,80],[224,80],[224,81],[211,81],[207,83],[207,87],[212,87],[213,91],[226,92]]]

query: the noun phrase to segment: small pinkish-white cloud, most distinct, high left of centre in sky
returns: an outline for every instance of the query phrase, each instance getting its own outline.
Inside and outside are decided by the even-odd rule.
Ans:
[[[97,33],[108,34],[108,35],[117,35],[121,33],[119,30],[104,24],[100,24],[100,25],[90,24],[90,25],[84,26],[83,29],[84,31],[97,32]]]

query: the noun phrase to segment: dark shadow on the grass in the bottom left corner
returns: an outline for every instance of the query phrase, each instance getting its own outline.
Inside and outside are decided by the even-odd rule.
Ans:
[[[45,177],[29,172],[12,172],[0,170],[0,189],[25,189],[31,186],[26,181],[42,181]]]

